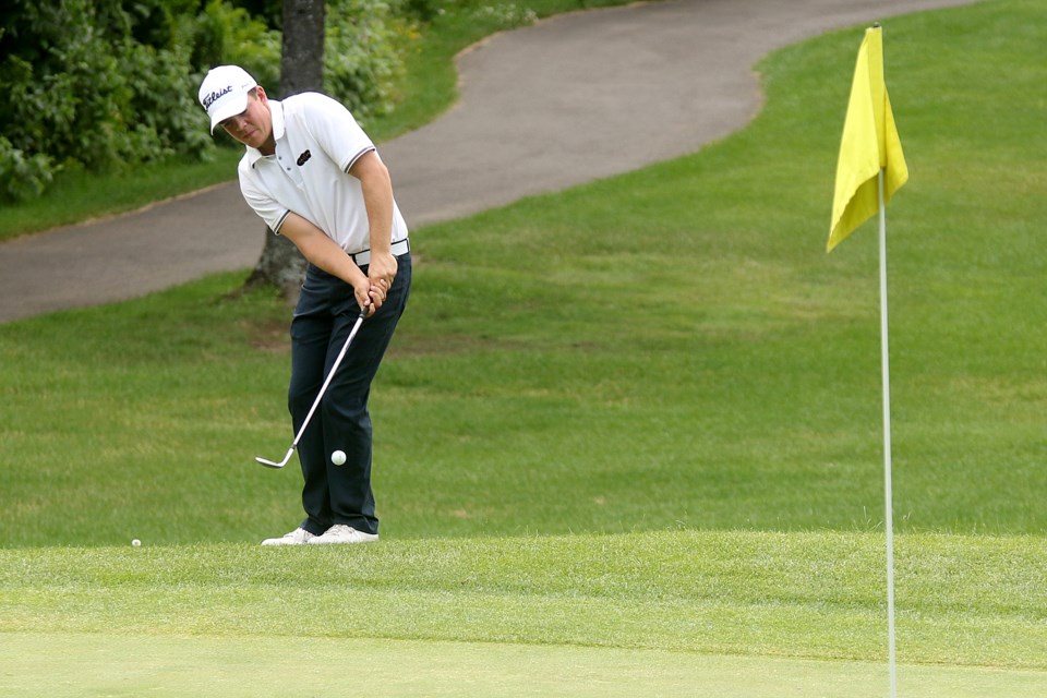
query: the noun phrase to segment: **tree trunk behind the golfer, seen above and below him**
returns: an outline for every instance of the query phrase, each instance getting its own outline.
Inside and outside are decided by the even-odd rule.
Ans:
[[[322,89],[325,10],[325,0],[284,0],[280,98]],[[276,286],[294,302],[304,278],[305,260],[294,244],[266,228],[265,246],[248,286]]]

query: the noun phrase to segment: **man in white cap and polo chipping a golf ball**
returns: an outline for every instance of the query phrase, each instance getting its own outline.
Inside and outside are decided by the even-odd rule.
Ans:
[[[239,173],[248,204],[309,262],[291,320],[294,433],[361,311],[370,313],[298,445],[305,520],[262,544],[376,541],[368,397],[411,287],[389,172],[349,110],[324,95],[269,99],[242,68],[219,65],[200,103],[212,133],[220,125],[246,146]],[[336,450],[345,465],[332,462]]]

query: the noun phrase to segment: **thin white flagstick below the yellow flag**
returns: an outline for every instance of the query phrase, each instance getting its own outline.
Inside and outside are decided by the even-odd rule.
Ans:
[[[880,192],[880,344],[883,376],[883,500],[887,529],[887,646],[891,674],[891,698],[898,696],[898,669],[894,657],[894,512],[891,505],[891,369],[887,323],[887,206],[883,203],[883,168]]]

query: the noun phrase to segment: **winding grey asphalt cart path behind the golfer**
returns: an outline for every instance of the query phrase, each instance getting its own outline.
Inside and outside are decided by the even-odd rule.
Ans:
[[[417,229],[695,152],[756,115],[753,65],[769,51],[970,1],[661,0],[559,15],[462,52],[459,103],[378,153]],[[264,236],[229,182],[19,238],[0,244],[0,322],[249,268]]]

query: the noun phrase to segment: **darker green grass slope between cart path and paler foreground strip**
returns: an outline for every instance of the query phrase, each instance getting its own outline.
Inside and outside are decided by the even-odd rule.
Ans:
[[[889,32],[913,172],[889,213],[903,531],[1047,530],[1047,201],[1013,194],[1047,185],[1039,97],[1010,88],[1045,77],[1023,62],[1043,38],[1030,12]],[[985,46],[985,25],[1014,38]],[[855,34],[763,63],[765,112],[699,154],[416,231],[412,305],[373,402],[383,531],[880,526],[875,225],[822,252]],[[958,84],[927,64],[938,44],[990,68]],[[954,109],[922,111],[931,89]],[[1006,167],[987,178],[986,163]],[[293,469],[251,466],[290,438],[287,310],[222,300],[241,279],[0,328],[10,544],[122,541],[132,515],[165,543],[293,521]]]

